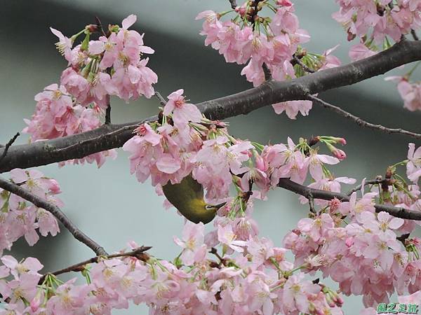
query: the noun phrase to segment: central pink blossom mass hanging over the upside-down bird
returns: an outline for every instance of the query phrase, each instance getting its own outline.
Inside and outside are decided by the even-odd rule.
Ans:
[[[208,200],[222,200],[229,196],[234,183],[243,192],[250,182],[265,197],[281,178],[304,183],[311,174],[315,183],[334,181],[326,165],[335,165],[346,158],[334,144],[346,144],[337,137],[315,137],[314,144],[325,144],[333,153],[319,154],[305,139],[295,144],[262,146],[251,141],[234,139],[227,125],[201,116],[199,109],[187,103],[178,90],[168,96],[168,102],[159,122],[144,123],[135,130],[135,136],[123,145],[131,153],[131,173],[144,182],[149,176],[153,186],[180,181],[192,173],[206,188]]]

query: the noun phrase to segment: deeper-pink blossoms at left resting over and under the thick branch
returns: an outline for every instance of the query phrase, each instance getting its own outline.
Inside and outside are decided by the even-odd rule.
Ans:
[[[76,104],[62,85],[48,85],[43,92],[36,94],[35,100],[35,113],[30,120],[25,119],[27,127],[23,130],[23,132],[31,134],[32,141],[79,134],[94,130],[101,125],[102,109],[96,104],[88,107]],[[108,156],[116,158],[116,154],[113,149],[67,162],[74,164],[96,162],[100,167]],[[65,162],[60,162],[59,165],[65,165]]]

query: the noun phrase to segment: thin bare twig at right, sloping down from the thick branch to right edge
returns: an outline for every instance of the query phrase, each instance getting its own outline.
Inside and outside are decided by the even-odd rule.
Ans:
[[[408,137],[413,137],[415,139],[421,139],[421,134],[416,134],[415,132],[409,132],[407,130],[403,130],[402,128],[389,128],[382,125],[375,125],[372,123],[368,123],[365,120],[362,120],[361,118],[353,115],[352,113],[348,113],[347,111],[344,111],[338,106],[329,104],[328,102],[323,101],[323,99],[319,99],[319,97],[315,97],[312,94],[307,94],[306,97],[307,99],[310,99],[313,102],[316,102],[317,104],[323,106],[325,109],[330,109],[330,111],[334,111],[335,113],[338,113],[340,116],[343,116],[345,118],[348,118],[349,120],[352,120],[354,123],[356,123],[357,125],[361,127],[379,130],[387,134],[403,134]]]

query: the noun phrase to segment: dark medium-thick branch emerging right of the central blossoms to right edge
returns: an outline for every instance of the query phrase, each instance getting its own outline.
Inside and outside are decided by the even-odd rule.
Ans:
[[[290,181],[290,179],[280,179],[278,186],[286,190],[290,190],[298,195],[302,195],[307,199],[309,199],[309,197],[321,200],[333,200],[333,198],[338,198],[341,202],[349,201],[349,196],[347,194],[309,188],[307,186],[300,185],[299,183]],[[396,216],[396,218],[421,221],[421,212],[411,211],[401,207],[388,206],[387,204],[375,204],[374,207],[376,212],[385,211],[392,216]]]

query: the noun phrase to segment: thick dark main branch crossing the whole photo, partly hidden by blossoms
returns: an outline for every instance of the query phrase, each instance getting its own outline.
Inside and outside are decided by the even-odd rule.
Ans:
[[[367,78],[383,74],[402,64],[417,60],[421,60],[421,41],[401,41],[388,50],[345,66],[317,71],[316,73],[289,81],[269,80],[258,87],[203,102],[197,104],[197,106],[207,118],[222,120],[232,116],[247,114],[270,104],[299,100],[308,94],[316,94],[336,87],[352,85]],[[8,172],[15,167],[26,169],[28,167],[83,158],[93,153],[119,148],[133,137],[132,130],[123,128],[130,125],[140,125],[143,121],[156,119],[156,116],[152,116],[135,123],[103,125],[95,130],[69,137],[12,146],[0,165],[0,172]],[[116,132],[118,130],[119,132]],[[112,135],[104,137],[105,134]],[[93,139],[95,141],[90,141]],[[79,143],[83,144],[76,146]],[[60,151],[60,149],[69,146],[72,146],[72,150]],[[0,148],[0,154],[3,152],[4,148]]]

